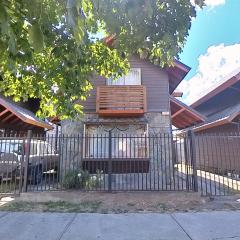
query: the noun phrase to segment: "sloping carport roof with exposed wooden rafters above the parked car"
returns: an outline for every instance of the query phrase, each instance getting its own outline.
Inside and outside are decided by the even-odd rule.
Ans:
[[[17,127],[18,124],[23,123],[26,127],[40,127],[53,129],[53,127],[37,118],[35,114],[23,107],[20,107],[10,100],[0,97],[0,124],[6,126]],[[20,128],[20,127],[19,127]]]

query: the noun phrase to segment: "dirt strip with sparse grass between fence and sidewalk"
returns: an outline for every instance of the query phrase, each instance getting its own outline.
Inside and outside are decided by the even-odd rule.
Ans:
[[[0,210],[96,213],[240,210],[240,202],[237,199],[240,199],[239,195],[213,198],[186,192],[25,193],[14,201],[0,206]]]

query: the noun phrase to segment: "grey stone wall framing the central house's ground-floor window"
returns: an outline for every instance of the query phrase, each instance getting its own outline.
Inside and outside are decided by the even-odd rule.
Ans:
[[[155,138],[155,140],[149,141],[149,156],[151,158],[151,166],[154,166],[154,169],[150,168],[150,171],[155,171],[159,174],[161,179],[164,179],[165,184],[171,182],[173,176],[173,163],[172,163],[172,147],[171,147],[171,122],[170,116],[164,115],[158,112],[146,113],[143,117],[140,118],[101,118],[98,114],[85,114],[82,121],[63,121],[62,123],[62,134],[65,136],[73,136],[73,138],[64,138],[62,141],[62,152],[61,152],[61,161],[65,163],[63,172],[65,168],[79,168],[81,166],[82,158],[82,142],[79,141],[77,135],[83,135],[84,125],[86,126],[145,126],[148,130],[149,136],[156,137],[159,134],[162,134],[160,138]],[[166,138],[163,137],[163,133],[166,134]],[[95,134],[95,132],[94,132]],[[102,131],[99,130],[99,134],[102,134]],[[107,133],[106,133],[107,134]],[[133,127],[129,127],[129,130],[126,130],[124,134],[133,135]],[[79,145],[79,146],[76,146]],[[70,146],[74,146],[71,147]],[[158,169],[159,171],[156,171]],[[167,169],[167,171],[165,171]],[[157,179],[160,179],[159,176],[154,176]],[[64,174],[63,174],[64,175]],[[153,176],[153,174],[150,174]],[[125,178],[128,179],[128,178]],[[124,183],[126,184],[126,183]]]

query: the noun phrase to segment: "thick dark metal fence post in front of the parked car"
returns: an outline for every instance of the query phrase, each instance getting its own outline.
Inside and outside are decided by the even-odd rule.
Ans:
[[[29,165],[29,155],[30,155],[30,143],[32,138],[32,130],[28,130],[27,138],[24,140],[24,155],[22,158],[23,167],[23,192],[27,192],[27,181],[28,181],[28,165]],[[25,158],[25,159],[24,159]]]

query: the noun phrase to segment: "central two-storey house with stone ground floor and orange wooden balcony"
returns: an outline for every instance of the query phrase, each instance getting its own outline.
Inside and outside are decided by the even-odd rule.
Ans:
[[[148,172],[149,177],[165,176],[168,182],[174,171],[172,124],[185,128],[204,121],[174,97],[189,70],[177,60],[162,69],[134,55],[126,76],[115,81],[101,76],[92,79],[83,118],[61,123],[62,134],[69,136],[62,142],[61,161],[72,168],[81,165],[90,172],[108,172],[111,158],[113,173]],[[81,144],[78,134],[83,136]]]

